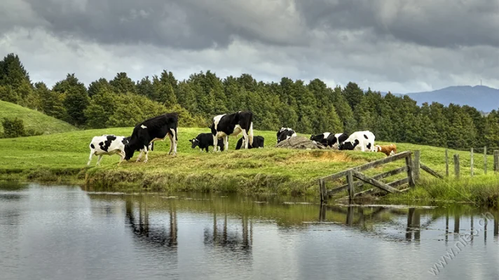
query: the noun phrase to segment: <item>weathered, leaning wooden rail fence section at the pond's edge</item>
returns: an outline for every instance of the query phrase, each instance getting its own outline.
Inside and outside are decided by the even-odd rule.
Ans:
[[[414,160],[412,158],[412,155],[414,155]],[[360,165],[357,167],[343,170],[342,172],[331,174],[329,176],[324,176],[319,179],[320,201],[321,203],[327,203],[327,199],[329,196],[344,190],[348,190],[348,197],[343,197],[343,198],[348,199],[350,201],[359,195],[367,195],[369,193],[374,193],[377,190],[384,190],[388,193],[399,193],[401,191],[397,189],[397,187],[399,186],[404,186],[405,184],[409,184],[409,188],[416,186],[416,180],[420,176],[419,173],[420,169],[423,169],[425,172],[428,172],[432,176],[435,176],[439,179],[444,178],[444,176],[437,174],[437,172],[430,169],[430,167],[423,165],[420,158],[421,158],[420,151],[414,151],[414,153],[411,151],[405,151],[402,153],[391,155],[381,160],[375,160],[374,162],[369,162],[365,165]],[[388,172],[377,174],[375,176],[367,176],[365,174],[362,174],[362,172],[365,170],[380,167],[381,165],[385,165],[390,162],[395,162],[397,160],[405,160],[405,165],[403,167],[399,167],[397,169],[393,169]],[[407,174],[407,176],[403,179],[392,181],[390,183],[383,183],[381,181],[381,179],[385,179],[389,176],[397,174],[402,174],[404,172]],[[327,189],[326,187],[327,182],[336,181],[338,179],[342,179],[345,177],[346,177],[345,185],[333,188],[331,190]],[[354,178],[358,180],[354,181]],[[356,188],[358,189],[364,186],[364,184],[366,183],[369,183],[370,185],[376,188],[371,188],[369,190],[363,190],[359,193],[355,193]],[[409,188],[406,188],[404,190],[408,190]]]

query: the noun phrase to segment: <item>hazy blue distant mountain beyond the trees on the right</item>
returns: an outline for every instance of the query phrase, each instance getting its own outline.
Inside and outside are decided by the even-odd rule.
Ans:
[[[484,85],[445,87],[431,92],[407,93],[418,105],[423,102],[439,102],[448,106],[450,103],[472,106],[479,111],[490,112],[499,109],[499,89]]]

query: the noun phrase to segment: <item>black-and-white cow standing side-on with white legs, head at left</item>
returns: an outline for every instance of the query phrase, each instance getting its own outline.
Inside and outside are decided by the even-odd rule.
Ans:
[[[216,151],[219,139],[224,139],[224,150],[228,151],[228,137],[238,136],[242,132],[245,148],[253,144],[253,113],[238,111],[213,117],[210,126],[213,134],[213,151]]]

